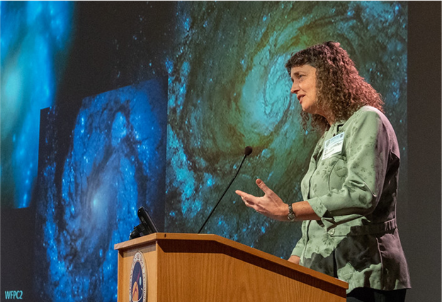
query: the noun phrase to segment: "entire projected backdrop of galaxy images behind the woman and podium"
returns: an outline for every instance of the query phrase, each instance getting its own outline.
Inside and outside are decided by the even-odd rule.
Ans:
[[[288,258],[300,223],[234,190],[301,201],[319,134],[284,64],[328,40],[385,100],[407,202],[407,18],[406,0],[0,0],[0,208],[35,211],[31,301],[116,301],[138,207],[196,233],[246,146],[202,233]]]

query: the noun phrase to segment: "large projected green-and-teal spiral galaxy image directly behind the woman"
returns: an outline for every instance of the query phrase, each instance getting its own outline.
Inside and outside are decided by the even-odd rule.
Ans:
[[[406,153],[407,3],[182,1],[179,6],[181,42],[166,62],[166,229],[198,231],[233,177],[244,147],[253,146],[203,233],[287,258],[300,238],[300,225],[255,214],[234,194],[239,189],[261,195],[254,184],[261,178],[285,202],[302,200],[299,183],[317,134],[300,129],[300,106],[290,96],[284,64],[291,52],[341,42],[383,95]],[[402,154],[402,163],[405,158]]]

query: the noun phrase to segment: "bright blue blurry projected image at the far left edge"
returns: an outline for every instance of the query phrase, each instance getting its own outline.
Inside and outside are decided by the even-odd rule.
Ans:
[[[0,1],[0,207],[30,204],[40,110],[55,100],[73,10],[72,1]]]

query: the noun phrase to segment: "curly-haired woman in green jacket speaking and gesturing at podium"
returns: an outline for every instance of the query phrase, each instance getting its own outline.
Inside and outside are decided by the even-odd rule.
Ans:
[[[409,272],[396,223],[399,147],[379,93],[337,42],[314,45],[285,67],[302,126],[322,133],[287,204],[262,180],[263,197],[237,190],[244,204],[279,221],[302,221],[289,259],[348,282],[347,301],[404,301]]]

